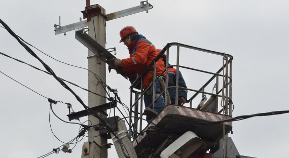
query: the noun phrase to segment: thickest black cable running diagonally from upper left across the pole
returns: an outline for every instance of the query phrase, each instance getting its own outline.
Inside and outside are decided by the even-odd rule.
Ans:
[[[112,128],[105,123],[105,121],[103,120],[103,118],[102,118],[99,114],[97,114],[94,110],[92,110],[91,108],[89,108],[89,107],[82,101],[82,99],[81,99],[73,90],[71,90],[62,80],[60,80],[60,78],[57,77],[57,75],[54,73],[54,71],[53,71],[42,59],[40,59],[27,45],[25,45],[25,44],[21,41],[21,40],[19,39],[19,37],[10,29],[10,27],[9,27],[4,21],[2,21],[2,19],[0,19],[0,23],[6,28],[6,30],[7,30],[13,37],[15,37],[15,38],[17,39],[17,41],[19,42],[19,44],[20,44],[21,46],[23,46],[28,53],[30,53],[33,57],[37,58],[37,59],[42,63],[42,65],[45,67],[45,69],[46,69],[48,72],[50,72],[50,73],[53,75],[53,77],[54,77],[65,89],[67,89],[68,91],[70,91],[70,92],[76,97],[76,99],[83,105],[83,107],[88,111],[89,114],[91,114],[91,115],[95,116],[97,119],[99,119],[99,121],[102,122],[103,125],[113,133],[113,135],[114,135],[114,136],[118,139],[118,141],[120,142],[120,144],[121,144],[121,149],[122,149],[125,157],[129,157],[129,155],[126,155],[126,153],[124,152],[124,148],[126,149],[126,147],[123,145],[123,143],[121,142],[121,140],[120,140],[120,138],[118,137],[118,135],[117,135],[115,132],[113,132]],[[126,149],[126,150],[127,150],[127,149]],[[128,153],[128,152],[127,152],[127,153]]]

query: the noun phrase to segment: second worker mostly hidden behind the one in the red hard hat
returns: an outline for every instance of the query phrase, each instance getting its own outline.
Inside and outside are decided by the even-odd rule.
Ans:
[[[157,49],[157,51],[160,53],[162,50]],[[166,58],[167,58],[167,56],[164,53],[161,59],[164,61],[165,65],[166,65]],[[175,84],[176,84],[176,82],[175,82],[176,81],[176,69],[173,67],[168,67],[168,76],[169,76],[168,87],[175,86]],[[178,87],[187,88],[184,77],[183,77],[182,73],[180,73],[180,71],[178,71]],[[171,104],[175,104],[175,89],[176,88],[169,88],[168,89]],[[178,89],[178,101],[177,101],[178,105],[183,105],[187,102],[187,94],[188,94],[187,90]]]

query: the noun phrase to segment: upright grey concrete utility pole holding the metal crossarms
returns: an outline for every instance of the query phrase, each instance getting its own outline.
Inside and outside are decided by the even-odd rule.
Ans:
[[[92,8],[98,7],[101,9],[101,13],[105,15],[105,10],[98,6],[94,5]],[[97,43],[99,43],[102,47],[105,48],[105,19],[104,16],[98,15],[91,18],[91,21],[88,22],[88,34],[91,36]],[[93,52],[88,50],[88,56],[95,55]],[[103,62],[100,57],[93,56],[88,58],[88,69],[97,74],[101,81],[106,82],[106,73],[105,73],[105,62]],[[106,96],[105,90],[101,86],[101,83],[99,83],[95,76],[92,73],[88,73],[88,90],[95,92],[97,94],[100,94],[101,96]],[[100,96],[97,96],[92,93],[88,93],[88,107],[94,107],[101,104],[105,104],[106,99],[102,98]],[[102,118],[106,118],[106,115],[103,114],[103,112],[98,113]],[[88,124],[97,125],[99,124],[99,120],[94,117],[93,115],[88,115]],[[98,136],[99,131],[95,131],[93,128],[90,128],[88,131],[88,141],[93,142],[95,141],[97,144],[107,144],[107,139]],[[98,136],[98,137],[95,137]],[[96,145],[96,144],[95,144]],[[95,146],[93,145],[93,146]],[[97,146],[98,147],[98,146]],[[92,148],[89,152],[95,152],[96,148]],[[94,157],[93,154],[88,154],[89,156],[85,157]],[[97,156],[98,157],[98,156]],[[103,146],[100,148],[100,157],[107,157],[107,148],[106,146]]]

